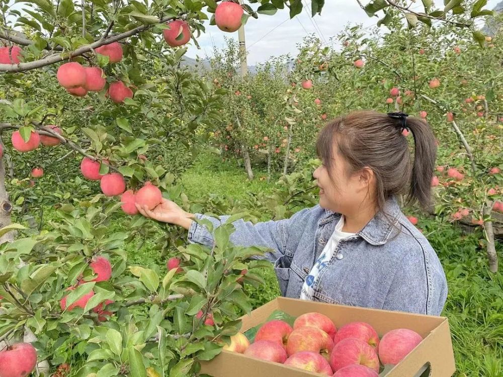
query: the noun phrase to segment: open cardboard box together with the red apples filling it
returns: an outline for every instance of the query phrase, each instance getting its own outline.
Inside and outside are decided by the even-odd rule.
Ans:
[[[214,377],[444,377],[455,371],[446,317],[277,298],[201,374]]]

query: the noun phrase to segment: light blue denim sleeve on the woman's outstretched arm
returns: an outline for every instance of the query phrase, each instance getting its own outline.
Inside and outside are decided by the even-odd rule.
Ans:
[[[234,233],[230,236],[230,241],[237,246],[264,246],[272,249],[264,256],[254,257],[254,259],[267,259],[275,262],[278,258],[285,254],[286,244],[288,241],[291,229],[298,225],[299,221],[303,221],[302,215],[310,209],[305,208],[289,219],[278,221],[267,221],[262,223],[253,224],[250,221],[242,219],[233,222],[235,227]],[[213,223],[213,229],[216,229],[220,224],[227,221],[229,216],[221,216],[220,219],[195,214],[197,219],[207,219]],[[189,228],[187,237],[189,243],[199,243],[208,247],[213,246],[213,236],[206,229],[195,221],[192,222]]]

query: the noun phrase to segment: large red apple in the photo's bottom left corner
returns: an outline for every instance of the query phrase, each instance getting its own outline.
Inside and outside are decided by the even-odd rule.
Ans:
[[[0,377],[26,377],[37,365],[37,350],[30,343],[16,343],[0,351]]]

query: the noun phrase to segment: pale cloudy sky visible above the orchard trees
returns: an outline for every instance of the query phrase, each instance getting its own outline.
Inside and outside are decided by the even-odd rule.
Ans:
[[[489,0],[484,9],[493,9],[498,1],[500,0]],[[316,15],[311,19],[311,1],[302,0],[302,3],[304,4],[304,10],[292,20],[289,19],[287,8],[278,10],[274,16],[259,15],[258,20],[248,19],[245,26],[245,36],[249,65],[264,62],[271,56],[287,53],[295,56],[297,44],[302,42],[306,35],[315,33],[315,36],[320,38],[322,42],[329,43],[329,38],[337,37],[348,24],[352,26],[361,24],[364,27],[372,27],[382,18],[382,12],[379,18],[368,17],[356,0],[326,0],[321,16]],[[363,1],[362,3],[368,4],[369,1]],[[435,4],[438,9],[444,7],[443,0],[435,0]],[[257,9],[257,7],[253,8]],[[424,11],[420,0],[417,0],[411,9],[418,12]],[[198,50],[192,44],[187,51],[187,56],[195,58],[198,55],[204,58],[211,55],[213,45],[218,48],[225,46],[224,36],[237,40],[237,32],[222,32],[216,26],[210,26],[208,22],[206,22],[205,27],[206,33],[201,34],[198,38],[201,49]],[[382,26],[381,29],[387,31],[385,26]],[[337,38],[334,42],[336,42],[334,46],[337,46]]]

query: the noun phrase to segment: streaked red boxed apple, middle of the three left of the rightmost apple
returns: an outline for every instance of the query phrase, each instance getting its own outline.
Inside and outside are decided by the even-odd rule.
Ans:
[[[379,358],[373,347],[356,338],[346,338],[333,346],[330,365],[334,371],[351,365],[361,364],[379,372]]]

